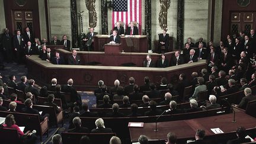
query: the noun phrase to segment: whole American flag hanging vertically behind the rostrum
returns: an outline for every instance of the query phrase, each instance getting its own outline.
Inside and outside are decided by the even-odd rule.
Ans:
[[[117,21],[123,21],[126,29],[130,21],[136,21],[141,34],[142,0],[113,0],[112,27]]]

